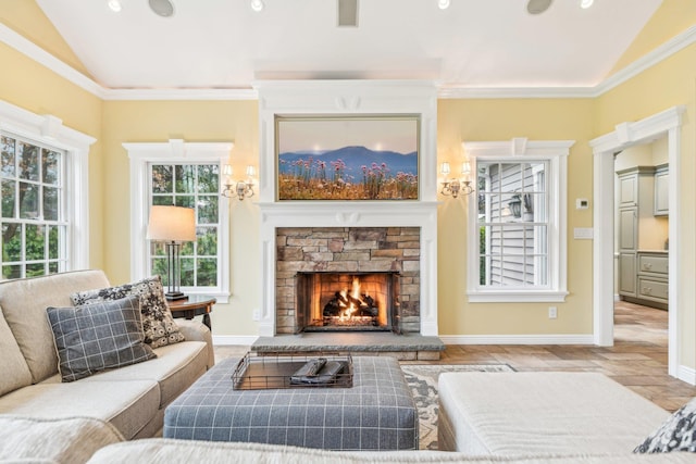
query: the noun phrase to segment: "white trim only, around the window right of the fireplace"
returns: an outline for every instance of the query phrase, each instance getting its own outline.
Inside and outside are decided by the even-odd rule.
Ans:
[[[477,201],[469,199],[467,240],[467,296],[469,302],[563,302],[568,296],[568,155],[574,140],[529,141],[513,138],[510,141],[462,142],[469,158],[472,173],[476,173],[477,160],[525,162],[546,160],[549,162],[547,175],[548,218],[549,218],[549,285],[548,289],[514,287],[495,289],[478,284],[478,222]],[[475,193],[474,193],[475,195]]]

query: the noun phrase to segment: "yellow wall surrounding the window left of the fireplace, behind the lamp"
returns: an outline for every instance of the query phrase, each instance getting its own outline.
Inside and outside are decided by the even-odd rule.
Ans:
[[[113,284],[130,279],[129,164],[122,143],[234,141],[229,162],[235,172],[244,173],[246,165],[259,165],[257,108],[257,101],[104,102],[104,268]],[[253,200],[231,204],[232,298],[229,304],[216,304],[211,315],[216,336],[258,333],[251,321],[261,298],[260,218]]]

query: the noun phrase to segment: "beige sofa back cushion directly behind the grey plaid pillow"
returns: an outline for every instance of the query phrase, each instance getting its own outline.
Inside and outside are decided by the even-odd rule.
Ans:
[[[48,306],[70,306],[75,291],[109,286],[101,271],[76,271],[0,283],[0,306],[32,373],[41,381],[58,372]]]

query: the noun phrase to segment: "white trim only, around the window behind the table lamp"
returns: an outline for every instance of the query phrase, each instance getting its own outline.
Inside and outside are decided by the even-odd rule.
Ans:
[[[219,163],[228,160],[233,142],[185,142],[170,139],[166,142],[123,143],[130,160],[130,279],[146,277],[148,269],[149,164]],[[214,297],[219,303],[229,301],[229,200],[220,197],[220,288],[216,292],[188,291],[190,294]]]

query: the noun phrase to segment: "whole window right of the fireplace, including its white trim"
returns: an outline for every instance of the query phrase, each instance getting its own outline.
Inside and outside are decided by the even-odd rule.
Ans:
[[[563,301],[566,171],[572,142],[464,143],[476,172],[470,199],[472,302]]]

